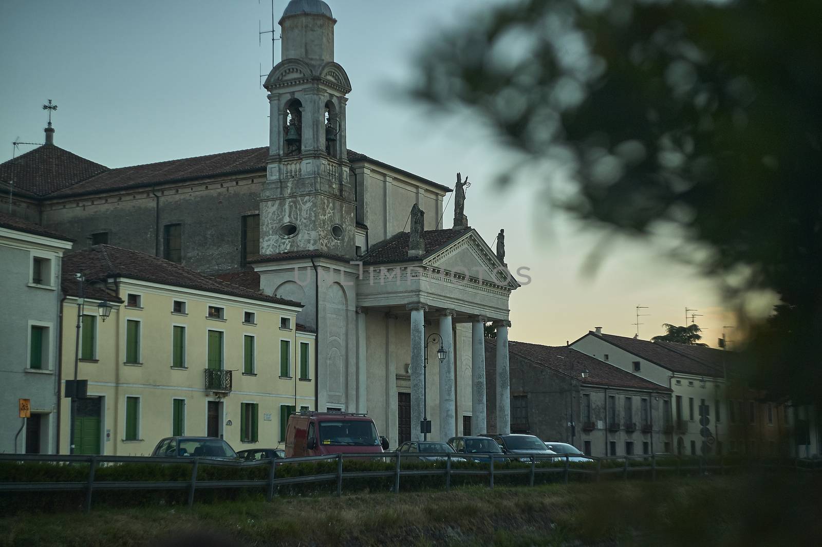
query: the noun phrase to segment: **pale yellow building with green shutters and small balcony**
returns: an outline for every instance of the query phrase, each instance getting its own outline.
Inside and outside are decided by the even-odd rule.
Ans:
[[[284,444],[295,408],[315,408],[315,334],[297,302],[99,245],[63,260],[61,386],[88,380],[75,451],[149,455],[169,435],[223,437],[235,450]],[[85,303],[77,337],[80,283]],[[109,319],[100,301],[112,303]],[[61,453],[72,403],[60,399]]]

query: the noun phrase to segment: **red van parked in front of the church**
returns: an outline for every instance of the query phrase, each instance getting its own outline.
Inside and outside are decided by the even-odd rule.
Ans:
[[[376,433],[365,414],[303,411],[289,416],[285,430],[285,457],[339,453],[382,453],[388,439]]]

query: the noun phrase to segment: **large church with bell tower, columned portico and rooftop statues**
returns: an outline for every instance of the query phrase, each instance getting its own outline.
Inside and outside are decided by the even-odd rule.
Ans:
[[[467,177],[452,189],[348,148],[336,24],[321,0],[285,8],[283,60],[265,81],[268,146],[107,168],[55,145],[49,122],[44,145],[0,165],[3,205],[75,251],[125,247],[300,302],[298,329],[316,333],[312,408],[367,413],[391,446],[507,433],[519,283],[504,232],[492,250],[470,227]]]

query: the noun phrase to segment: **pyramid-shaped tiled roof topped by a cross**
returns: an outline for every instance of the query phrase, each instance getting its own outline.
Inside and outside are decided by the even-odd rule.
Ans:
[[[43,145],[0,163],[0,181],[14,182],[15,191],[44,196],[108,170],[59,146]]]

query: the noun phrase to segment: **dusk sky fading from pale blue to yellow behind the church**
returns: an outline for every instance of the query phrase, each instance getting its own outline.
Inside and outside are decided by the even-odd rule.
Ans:
[[[506,0],[326,1],[339,21],[335,60],[353,85],[349,148],[448,186],[456,172],[469,175],[470,225],[489,245],[505,228],[510,269],[529,269],[531,282],[510,298],[511,339],[564,345],[596,326],[633,336],[635,306],[647,306],[640,338],[685,324],[686,307],[702,315],[711,346],[736,324],[718,283],[652,242],[615,237],[587,273],[606,233],[552,208],[550,173],[498,186],[515,156],[479,124],[432,116],[404,94],[432,36]],[[275,2],[275,21],[286,3]],[[270,28],[270,0],[4,0],[0,161],[14,141],[42,141],[47,99],[58,105],[55,144],[110,168],[267,145],[259,75],[270,70],[271,41],[259,30]],[[450,203],[446,228],[452,215]]]

